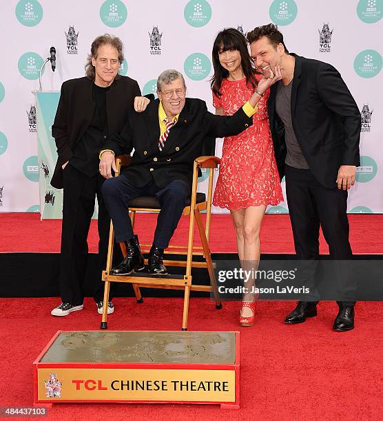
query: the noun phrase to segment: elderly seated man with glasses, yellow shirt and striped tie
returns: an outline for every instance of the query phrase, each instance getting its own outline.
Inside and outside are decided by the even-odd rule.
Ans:
[[[265,91],[273,80],[263,78],[258,89]],[[154,242],[149,252],[149,272],[166,274],[163,251],[167,248],[190,195],[194,160],[202,154],[207,137],[234,136],[252,124],[260,95],[254,93],[234,116],[215,116],[207,111],[203,100],[185,98],[183,75],[169,69],[157,80],[158,100],[150,102],[142,114],[127,118],[121,136],[105,145],[114,154],[130,153],[132,163],[119,177],[111,178],[114,155],[101,153],[100,171],[108,178],[103,196],[112,217],[116,241],[124,242],[127,257],[111,274],[130,274],[143,269],[143,257],[134,237],[127,213],[130,199],[156,195],[161,204]]]

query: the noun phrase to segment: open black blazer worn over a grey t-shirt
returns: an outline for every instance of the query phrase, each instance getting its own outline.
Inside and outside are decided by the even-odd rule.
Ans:
[[[360,111],[333,66],[296,58],[291,89],[291,120],[307,164],[326,188],[335,188],[340,165],[360,165]],[[282,82],[280,82],[282,83]],[[276,113],[276,85],[269,97],[269,120],[280,177],[284,175],[284,125]]]

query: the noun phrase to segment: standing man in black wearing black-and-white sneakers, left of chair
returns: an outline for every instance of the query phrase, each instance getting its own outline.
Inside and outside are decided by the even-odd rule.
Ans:
[[[118,75],[123,58],[120,39],[98,36],[92,43],[86,76],[67,80],[61,87],[52,126],[58,158],[51,184],[64,189],[59,278],[62,303],[52,310],[53,316],[83,308],[87,234],[95,197],[99,203],[99,273],[105,269],[110,217],[101,195],[104,178],[99,175],[99,152],[111,133],[121,131],[133,106],[142,110],[149,102],[141,97],[136,80]],[[99,313],[103,312],[103,285],[100,275],[94,281]],[[110,302],[108,313],[113,311]]]

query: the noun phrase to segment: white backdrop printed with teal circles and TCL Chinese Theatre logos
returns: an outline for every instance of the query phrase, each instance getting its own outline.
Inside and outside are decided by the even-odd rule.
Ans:
[[[8,0],[1,1],[0,211],[39,212],[39,171],[52,168],[37,157],[38,70],[56,47],[43,90],[57,91],[63,80],[84,75],[92,40],[105,32],[125,45],[121,73],[154,91],[166,68],[185,74],[188,96],[214,111],[209,78],[216,34],[234,27],[247,32],[273,21],[291,52],[338,68],[362,112],[362,166],[349,196],[351,213],[383,213],[382,0]],[[151,43],[158,32],[161,45]],[[158,36],[157,36],[158,37]],[[50,111],[52,114],[52,110]],[[50,127],[48,127],[48,131]],[[49,141],[54,142],[51,136]],[[222,140],[217,141],[220,156]],[[284,182],[282,182],[284,188]],[[44,190],[44,189],[43,189]],[[61,192],[47,184],[45,206]],[[53,202],[53,203],[52,203]],[[287,203],[269,208],[287,212]],[[216,212],[225,210],[214,208]]]

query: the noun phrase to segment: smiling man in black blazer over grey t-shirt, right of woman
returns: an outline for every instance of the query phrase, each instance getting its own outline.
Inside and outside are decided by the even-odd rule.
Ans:
[[[247,33],[251,57],[266,77],[280,66],[282,80],[271,87],[269,120],[286,193],[298,259],[319,257],[319,227],[331,259],[352,259],[347,191],[360,165],[360,112],[339,72],[331,65],[289,54],[276,25]],[[349,297],[347,297],[349,298]],[[300,301],[285,323],[316,316],[317,301]],[[353,297],[338,301],[333,329],[354,327]]]

